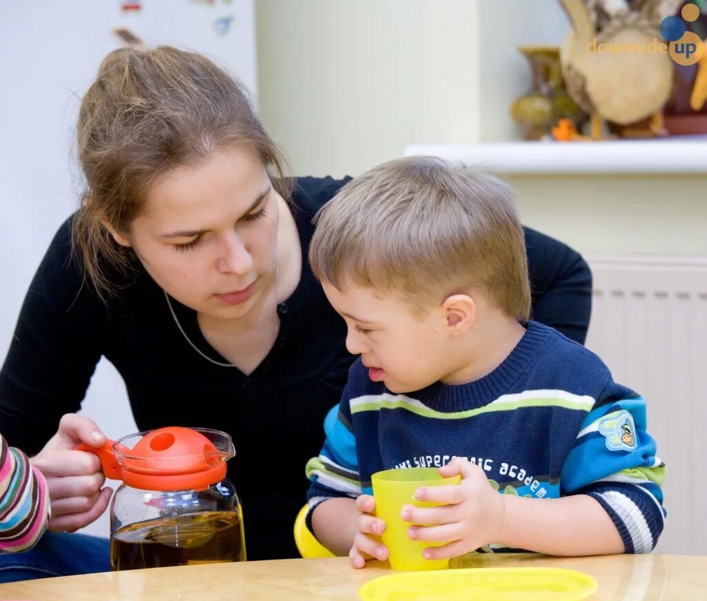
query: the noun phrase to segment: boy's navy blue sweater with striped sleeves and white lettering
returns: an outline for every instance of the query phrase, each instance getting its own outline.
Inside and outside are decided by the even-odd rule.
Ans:
[[[645,402],[614,383],[582,345],[531,321],[491,374],[395,394],[358,359],[327,441],[309,461],[310,512],[332,496],[372,494],[370,477],[392,468],[439,467],[467,458],[504,494],[594,497],[627,553],[648,552],[662,532],[665,466],[646,432]],[[500,545],[491,545],[495,550]]]

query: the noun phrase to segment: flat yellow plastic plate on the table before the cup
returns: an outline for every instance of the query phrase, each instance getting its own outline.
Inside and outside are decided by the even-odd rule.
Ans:
[[[576,601],[599,585],[592,576],[561,568],[469,568],[381,576],[358,589],[363,601]]]

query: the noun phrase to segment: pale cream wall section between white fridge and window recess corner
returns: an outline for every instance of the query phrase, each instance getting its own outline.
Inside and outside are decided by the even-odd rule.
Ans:
[[[358,174],[411,141],[476,139],[478,8],[469,0],[258,2],[262,117],[293,172]]]

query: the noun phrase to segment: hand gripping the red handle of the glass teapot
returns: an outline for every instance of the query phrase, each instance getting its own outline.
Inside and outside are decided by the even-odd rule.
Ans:
[[[76,451],[81,443],[100,448],[105,441],[105,434],[91,419],[67,413],[59,422],[57,434],[30,459],[49,487],[50,530],[75,532],[98,519],[107,508],[113,491],[102,489],[105,476],[98,456]]]

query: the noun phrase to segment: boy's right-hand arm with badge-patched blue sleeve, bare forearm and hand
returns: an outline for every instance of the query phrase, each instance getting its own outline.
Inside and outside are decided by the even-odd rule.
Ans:
[[[412,537],[450,542],[430,559],[454,557],[492,542],[554,555],[649,552],[663,528],[665,465],[645,432],[645,403],[610,382],[585,418],[561,473],[561,499],[501,495],[484,471],[455,459],[440,469],[462,474],[458,487],[420,489],[418,499],[450,504],[407,506]]]

